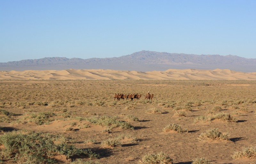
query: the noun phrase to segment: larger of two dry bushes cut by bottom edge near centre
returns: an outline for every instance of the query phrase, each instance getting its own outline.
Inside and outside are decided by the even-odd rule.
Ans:
[[[173,160],[169,157],[166,157],[163,152],[160,153],[148,153],[142,157],[140,163],[143,164],[173,164]]]

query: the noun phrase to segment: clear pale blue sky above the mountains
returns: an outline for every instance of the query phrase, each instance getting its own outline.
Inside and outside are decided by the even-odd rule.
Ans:
[[[256,58],[256,0],[0,1],[0,62],[141,50]]]

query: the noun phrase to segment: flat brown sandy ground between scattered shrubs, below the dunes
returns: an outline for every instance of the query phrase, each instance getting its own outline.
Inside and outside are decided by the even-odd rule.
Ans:
[[[68,71],[74,70],[58,71],[56,75],[51,77],[57,77],[57,74],[70,75]],[[76,70],[74,72],[79,75],[87,75],[90,78],[95,74],[97,77],[106,78],[109,75],[108,71],[115,74],[111,77],[122,75],[120,78],[123,78],[128,76],[125,76],[128,74],[127,72],[120,73],[112,70],[106,70],[106,72],[91,70],[90,73],[88,70]],[[186,74],[188,73],[186,72],[192,74],[195,71],[200,72],[183,70],[181,73],[184,74],[184,78],[187,78],[188,75]],[[11,72],[13,75],[16,74],[16,77],[20,74],[15,71]],[[74,75],[74,72],[71,75]],[[170,73],[172,70],[166,72]],[[220,74],[229,77],[232,73],[237,75],[236,78],[244,77],[242,73],[230,70],[207,72],[211,77]],[[23,73],[28,75],[31,71]],[[40,78],[49,78],[47,71],[42,73],[45,76],[40,75],[40,71],[37,73]],[[201,73],[204,74],[205,72]],[[9,72],[9,74],[11,73]],[[129,77],[132,78],[136,74],[143,75],[143,73],[130,72]],[[156,75],[160,76],[161,73],[156,71],[146,74],[154,79]],[[165,78],[167,75],[161,76]],[[26,79],[27,77],[23,78]],[[4,127],[1,134],[20,129],[63,134],[70,139],[70,144],[78,148],[91,148],[94,152],[99,153],[99,159],[92,159],[92,162],[95,163],[139,163],[147,153],[161,151],[172,158],[176,164],[189,164],[197,157],[204,157],[212,163],[220,164],[256,163],[255,158],[232,159],[231,157],[236,151],[242,151],[244,146],[256,146],[255,89],[255,81],[242,80],[1,80],[1,109],[16,114],[12,121],[0,122],[0,126]],[[154,94],[150,101],[143,98],[148,91]],[[143,96],[140,100],[114,101],[115,93],[139,93]],[[31,102],[48,102],[48,105],[43,106]],[[99,102],[102,102],[103,105],[99,105]],[[191,110],[186,110],[186,104],[189,102],[191,102]],[[168,104],[173,106],[167,106]],[[221,109],[213,110],[216,106],[220,106]],[[177,110],[177,107],[180,109]],[[149,109],[158,109],[161,112],[148,113]],[[60,117],[57,116],[53,118],[52,122],[43,125],[36,125],[29,120],[24,120],[25,116],[32,113],[47,111],[54,112],[56,115],[68,114],[83,118],[117,116],[121,121],[130,122],[134,126],[134,130],[117,127],[106,133],[103,132],[106,129],[104,126],[93,125],[88,121],[79,121],[75,118],[59,119]],[[175,114],[179,111],[184,111],[185,116],[176,116]],[[194,122],[198,116],[220,113],[230,114],[237,119],[237,122],[223,120]],[[129,120],[125,117],[127,115],[133,115],[139,121]],[[72,124],[74,122],[75,124]],[[179,124],[188,132],[163,132],[163,128],[171,123]],[[89,125],[89,127],[81,128],[83,125]],[[68,127],[72,127],[74,130],[66,131]],[[218,128],[220,132],[228,133],[229,141],[198,140],[201,133],[212,128]],[[101,146],[102,141],[120,135],[129,136],[121,140],[122,146]],[[136,139],[133,140],[133,138]],[[88,139],[94,139],[95,142],[87,143]],[[58,159],[63,163],[70,162],[65,160],[63,156],[58,156]],[[88,161],[90,159],[83,158],[83,160]]]

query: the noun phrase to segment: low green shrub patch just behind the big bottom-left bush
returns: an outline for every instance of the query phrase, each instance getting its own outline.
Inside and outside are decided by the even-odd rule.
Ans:
[[[37,125],[43,125],[47,124],[49,122],[52,122],[54,118],[53,116],[56,116],[52,112],[40,112],[40,113],[30,113],[28,116],[25,116],[23,119],[28,120],[28,122],[35,123]]]

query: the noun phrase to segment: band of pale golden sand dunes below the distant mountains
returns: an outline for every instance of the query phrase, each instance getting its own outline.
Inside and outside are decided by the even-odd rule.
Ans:
[[[229,69],[168,69],[166,71],[119,71],[104,69],[0,71],[0,80],[256,80],[256,72]]]

